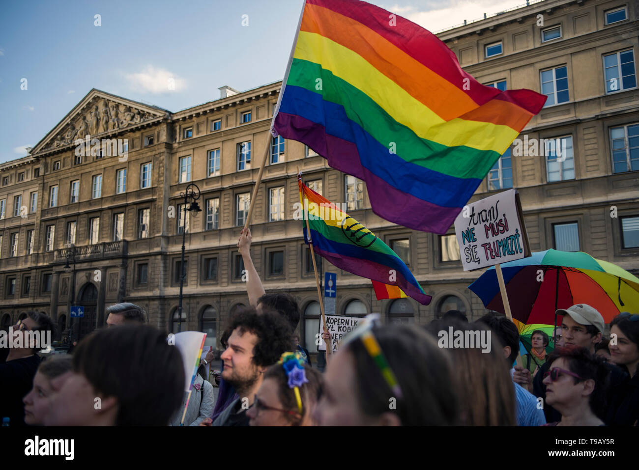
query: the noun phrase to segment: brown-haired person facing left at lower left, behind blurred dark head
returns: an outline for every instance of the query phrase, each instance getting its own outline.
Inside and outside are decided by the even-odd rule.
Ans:
[[[24,402],[24,422],[29,426],[42,426],[44,418],[49,413],[51,402],[54,400],[56,390],[51,381],[57,377],[63,377],[60,384],[68,378],[73,370],[73,356],[70,354],[56,354],[43,360],[33,377],[33,388],[22,399]]]

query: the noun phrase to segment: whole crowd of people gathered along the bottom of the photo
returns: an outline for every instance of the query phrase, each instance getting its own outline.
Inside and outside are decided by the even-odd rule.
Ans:
[[[192,372],[166,331],[148,326],[142,308],[121,303],[107,309],[107,328],[83,338],[72,354],[41,360],[40,344],[0,350],[0,417],[11,426],[638,424],[637,314],[617,315],[604,338],[595,308],[557,310],[553,337],[534,331],[521,358],[519,331],[501,314],[468,321],[450,311],[424,326],[371,319],[323,358],[326,371],[319,372],[298,344],[295,298],[264,291],[249,230],[238,247],[251,307],[236,312],[220,338],[217,400],[204,372],[213,351],[185,392]],[[54,323],[31,313],[13,330],[53,332]],[[442,331],[487,333],[490,344],[442,347]]]

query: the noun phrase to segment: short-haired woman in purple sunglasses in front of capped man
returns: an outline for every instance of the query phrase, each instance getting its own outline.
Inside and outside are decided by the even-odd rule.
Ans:
[[[548,363],[546,403],[562,417],[546,426],[604,426],[609,372],[603,359],[584,347],[567,345],[550,354]]]

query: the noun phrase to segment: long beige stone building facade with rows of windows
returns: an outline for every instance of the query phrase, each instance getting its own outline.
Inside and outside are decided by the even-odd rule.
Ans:
[[[635,274],[636,9],[636,1],[544,0],[438,34],[482,84],[549,97],[472,201],[517,188],[532,251],[581,250]],[[177,331],[184,235],[181,330],[207,331],[206,344],[215,345],[233,310],[248,304],[236,243],[266,146],[252,258],[267,292],[298,299],[308,349],[315,350],[319,305],[302,222],[293,219],[298,167],[307,185],[346,203],[433,296],[427,306],[378,301],[369,280],[318,260],[322,273],[337,272],[337,314],[419,324],[450,309],[484,314],[467,288],[479,273],[462,270],[453,227],[438,236],[390,224],[370,209],[374,188],[330,169],[300,142],[272,139],[280,87],[222,87],[219,100],[180,112],[93,89],[28,156],[0,165],[0,326],[38,310],[65,331],[70,307],[82,305],[82,337],[104,326],[105,307],[130,301],[151,324]],[[529,143],[538,139],[558,147],[535,150]],[[199,213],[183,210],[191,183],[201,193]]]

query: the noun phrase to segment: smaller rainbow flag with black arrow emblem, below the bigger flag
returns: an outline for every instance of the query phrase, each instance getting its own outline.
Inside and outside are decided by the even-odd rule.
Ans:
[[[297,181],[302,213],[304,220],[308,218],[309,221],[315,253],[339,269],[383,284],[398,285],[419,303],[430,303],[431,296],[424,292],[406,264],[386,243],[328,199],[304,185],[301,174],[298,174]],[[304,242],[309,243],[306,224]]]

